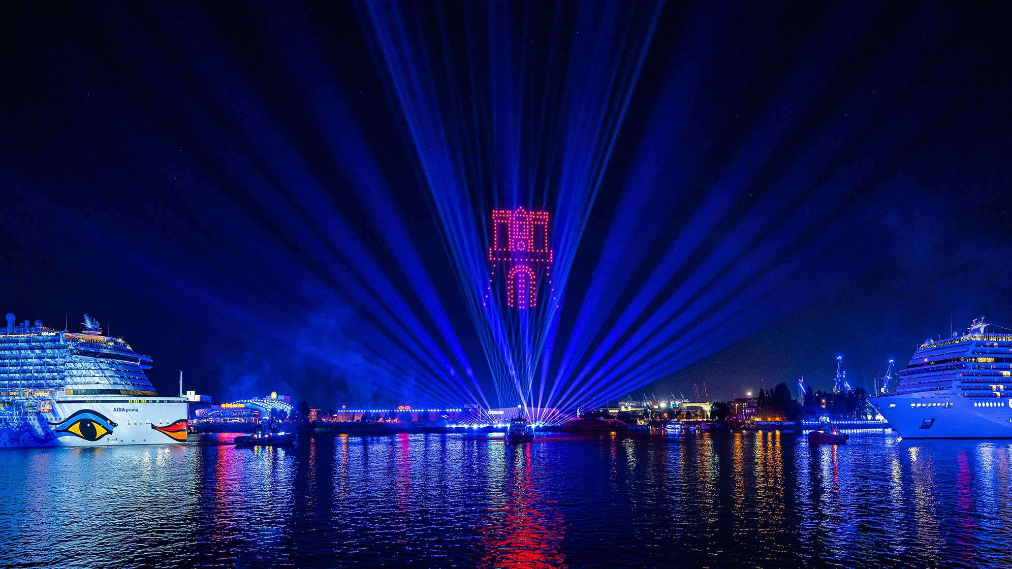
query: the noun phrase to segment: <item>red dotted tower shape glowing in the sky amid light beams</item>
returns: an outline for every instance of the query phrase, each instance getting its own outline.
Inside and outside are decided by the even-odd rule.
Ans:
[[[547,212],[527,212],[523,208],[492,211],[489,260],[492,275],[499,272],[505,276],[507,306],[517,310],[537,306],[542,275],[551,284],[552,259]],[[490,294],[491,286],[490,279]]]

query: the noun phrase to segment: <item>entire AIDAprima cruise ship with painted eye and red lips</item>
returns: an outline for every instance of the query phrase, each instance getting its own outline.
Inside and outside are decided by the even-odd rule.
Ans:
[[[15,323],[0,327],[0,449],[186,442],[186,399],[162,397],[151,357],[102,335]]]

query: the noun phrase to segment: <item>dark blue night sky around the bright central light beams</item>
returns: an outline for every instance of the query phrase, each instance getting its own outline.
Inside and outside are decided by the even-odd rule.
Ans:
[[[592,351],[656,279],[657,260],[683,231],[695,232],[695,246],[663,275],[650,307],[686,294],[702,316],[663,343],[686,334],[699,341],[644,376],[658,381],[626,393],[691,397],[692,384],[705,382],[711,397],[730,397],[800,375],[828,388],[837,353],[854,383],[870,388],[889,357],[906,361],[924,338],[948,335],[950,319],[964,329],[983,314],[1012,327],[1007,8],[669,3],[632,81],[630,60],[617,50],[550,57],[557,44],[593,46],[578,34],[607,28],[581,19],[604,14],[600,6],[511,4],[510,26],[477,29],[476,18],[496,20],[473,13],[484,9],[477,5],[404,6],[406,25],[438,47],[410,54],[426,71],[418,77],[465,93],[461,100],[485,99],[477,103],[484,108],[499,104],[508,85],[525,108],[546,109],[543,120],[516,128],[544,141],[590,120],[579,92],[538,106],[544,93],[565,91],[574,69],[602,77],[619,69],[619,83],[630,82],[586,230],[571,244],[557,351],[573,333],[585,334]],[[628,23],[632,45],[651,8],[638,4],[635,17],[615,19]],[[190,388],[216,397],[277,389],[323,405],[435,401],[418,384],[436,380],[405,381],[396,362],[376,356],[386,352],[372,331],[384,328],[383,305],[417,315],[451,351],[424,310],[419,274],[397,262],[396,226],[492,401],[433,206],[431,191],[453,189],[425,185],[434,151],[405,134],[411,118],[367,13],[364,4],[8,7],[0,311],[60,327],[66,314],[72,329],[87,311],[152,354],[150,376],[167,393],[184,370]],[[523,62],[525,74],[483,59],[494,50],[469,49],[488,39]],[[446,61],[469,56],[472,76],[440,74]],[[469,87],[468,77],[496,87]],[[321,119],[321,109],[335,106],[321,93],[333,94],[353,128]],[[445,112],[444,103],[433,104]],[[507,160],[472,140],[473,131],[453,135],[484,149],[489,171]],[[342,146],[348,141],[357,146]],[[349,156],[348,148],[359,150]],[[534,148],[562,170],[573,163],[550,144]],[[393,204],[385,215],[399,223],[376,214],[369,196],[377,190],[356,178],[365,162],[382,173]],[[652,185],[637,177],[645,169]],[[553,174],[529,176],[549,187],[529,192],[532,206],[553,210]],[[467,191],[485,191],[473,189],[480,185]],[[712,209],[714,199],[726,207]],[[607,304],[595,304],[598,325],[573,332],[628,204],[642,206],[622,222],[635,238],[606,260],[626,276]],[[321,223],[328,217],[340,222]],[[760,259],[771,243],[776,254]],[[714,258],[705,286],[685,293]],[[766,294],[746,296],[783,267]],[[700,295],[721,283],[720,301],[702,304]],[[369,291],[378,301],[363,300]],[[736,298],[739,308],[726,308]]]

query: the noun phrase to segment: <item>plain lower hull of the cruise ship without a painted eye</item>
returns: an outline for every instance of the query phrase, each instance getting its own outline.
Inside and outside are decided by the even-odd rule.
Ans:
[[[904,438],[1012,438],[1012,398],[930,392],[868,402]]]

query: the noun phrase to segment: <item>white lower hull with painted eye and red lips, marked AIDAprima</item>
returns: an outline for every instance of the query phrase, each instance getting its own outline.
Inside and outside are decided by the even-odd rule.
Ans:
[[[29,402],[17,415],[0,425],[0,449],[186,443],[180,398],[64,397]]]

